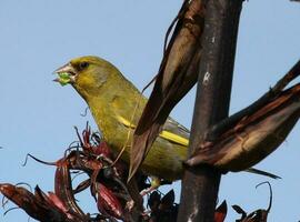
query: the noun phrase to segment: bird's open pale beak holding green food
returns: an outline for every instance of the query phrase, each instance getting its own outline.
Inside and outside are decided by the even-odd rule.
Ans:
[[[59,82],[61,85],[66,85],[68,83],[74,83],[77,71],[72,67],[71,63],[64,64],[63,67],[57,69],[54,73],[58,74],[58,78],[53,81]]]

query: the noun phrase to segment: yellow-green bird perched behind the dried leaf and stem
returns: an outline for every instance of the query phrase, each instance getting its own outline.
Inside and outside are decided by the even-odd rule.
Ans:
[[[132,133],[147,98],[113,64],[98,57],[72,59],[56,72],[57,81],[70,83],[86,100],[113,152],[124,148],[121,159],[129,162]],[[141,170],[168,181],[181,179],[188,143],[189,130],[168,118]]]

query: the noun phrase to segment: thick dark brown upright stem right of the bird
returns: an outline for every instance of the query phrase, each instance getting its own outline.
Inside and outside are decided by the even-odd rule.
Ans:
[[[228,117],[242,0],[208,0],[189,154],[208,128]],[[200,165],[184,171],[178,221],[213,222],[221,174]]]

